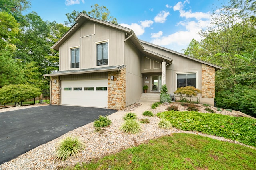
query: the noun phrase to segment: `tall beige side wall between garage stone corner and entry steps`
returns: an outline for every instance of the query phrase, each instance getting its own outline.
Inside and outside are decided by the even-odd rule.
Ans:
[[[124,64],[126,65],[126,106],[129,106],[138,102],[143,92],[143,79],[140,72],[141,54],[130,40],[125,42]]]

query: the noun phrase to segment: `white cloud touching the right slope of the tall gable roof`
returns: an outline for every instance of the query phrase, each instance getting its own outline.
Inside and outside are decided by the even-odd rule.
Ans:
[[[154,22],[151,20],[140,21],[138,23],[132,23],[131,25],[121,23],[123,27],[131,28],[137,36],[144,34],[145,28],[150,27]]]

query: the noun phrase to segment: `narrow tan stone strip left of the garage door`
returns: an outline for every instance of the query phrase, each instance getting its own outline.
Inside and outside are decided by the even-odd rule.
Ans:
[[[51,104],[59,105],[60,104],[60,80],[59,76],[51,76],[52,88],[51,88]],[[54,80],[57,82],[54,83]]]

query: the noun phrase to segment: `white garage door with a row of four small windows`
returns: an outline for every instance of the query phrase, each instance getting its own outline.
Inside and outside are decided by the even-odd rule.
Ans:
[[[108,107],[108,79],[62,81],[61,104]]]

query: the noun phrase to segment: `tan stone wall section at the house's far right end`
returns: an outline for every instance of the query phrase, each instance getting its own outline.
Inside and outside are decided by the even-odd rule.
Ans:
[[[215,68],[202,64],[202,98],[215,98]]]

